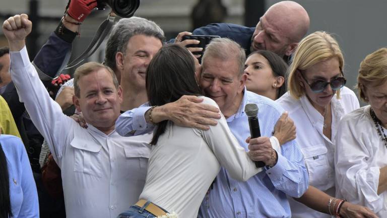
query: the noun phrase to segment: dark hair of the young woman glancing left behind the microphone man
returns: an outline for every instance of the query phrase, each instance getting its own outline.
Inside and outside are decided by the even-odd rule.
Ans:
[[[253,55],[254,53],[259,53],[262,55],[266,60],[268,60],[270,67],[272,68],[274,76],[282,76],[284,78],[284,83],[281,87],[278,88],[278,95],[277,99],[280,98],[283,94],[285,94],[288,91],[288,64],[279,57],[276,53],[270,50],[257,50],[252,53],[250,53],[249,56]]]

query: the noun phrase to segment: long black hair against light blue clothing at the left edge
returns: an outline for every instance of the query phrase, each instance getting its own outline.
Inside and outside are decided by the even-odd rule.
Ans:
[[[13,217],[6,154],[0,144],[0,218]]]

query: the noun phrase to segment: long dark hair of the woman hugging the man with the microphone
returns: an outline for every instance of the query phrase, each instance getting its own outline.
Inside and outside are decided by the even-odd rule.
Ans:
[[[195,63],[189,51],[176,44],[164,45],[149,63],[146,72],[149,104],[160,106],[178,100],[183,95],[201,95],[195,79]],[[152,145],[165,132],[168,121],[158,123]]]

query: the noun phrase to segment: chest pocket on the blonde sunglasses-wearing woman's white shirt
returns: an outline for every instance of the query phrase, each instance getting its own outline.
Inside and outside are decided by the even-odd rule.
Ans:
[[[328,149],[325,145],[302,148],[305,165],[308,169],[309,184],[327,190],[334,186],[335,178],[328,161]]]

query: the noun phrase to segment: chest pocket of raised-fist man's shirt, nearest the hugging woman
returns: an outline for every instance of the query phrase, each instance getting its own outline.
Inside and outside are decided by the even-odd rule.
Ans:
[[[126,180],[145,181],[150,153],[149,148],[124,148],[124,151],[125,161],[128,169]]]

